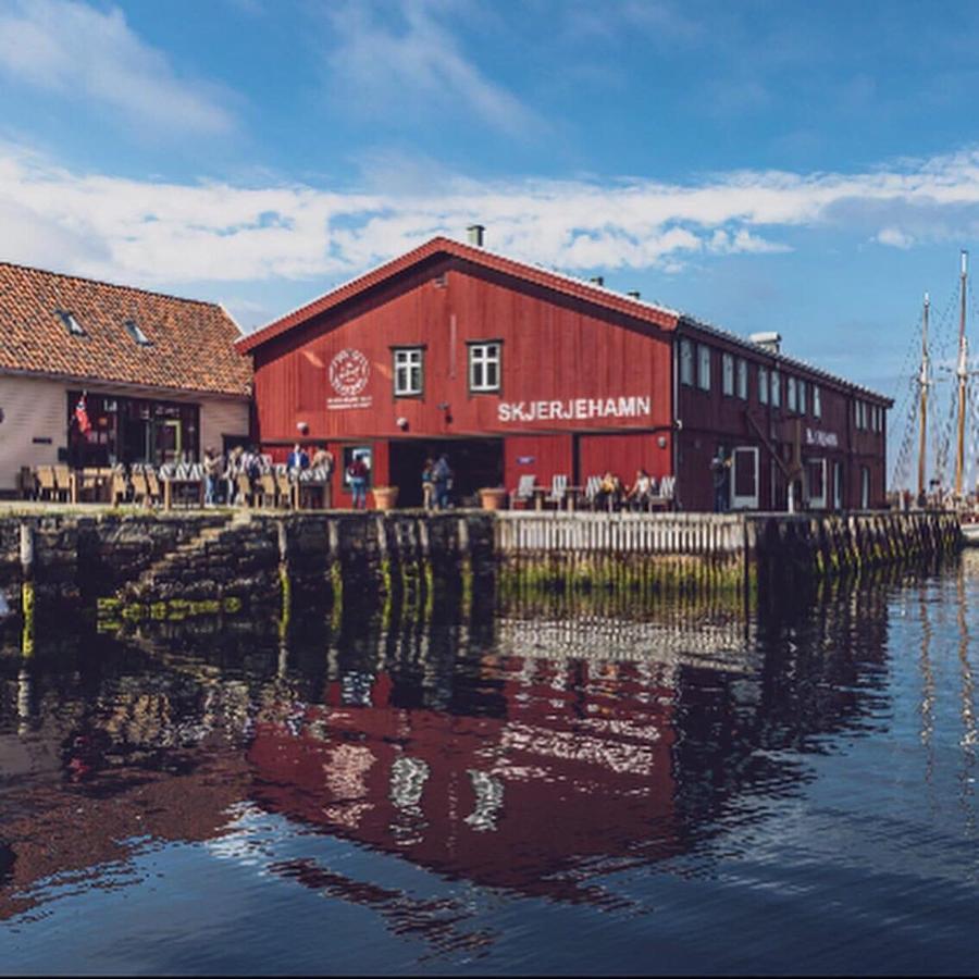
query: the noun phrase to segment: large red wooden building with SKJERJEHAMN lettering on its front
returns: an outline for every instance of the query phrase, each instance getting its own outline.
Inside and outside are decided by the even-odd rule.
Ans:
[[[238,342],[255,362],[257,437],[282,459],[327,444],[333,498],[363,455],[375,485],[421,500],[426,456],[455,492],[522,474],[574,485],[607,469],[676,478],[714,505],[710,459],[733,457],[735,508],[877,507],[890,399],[649,302],[437,237]]]

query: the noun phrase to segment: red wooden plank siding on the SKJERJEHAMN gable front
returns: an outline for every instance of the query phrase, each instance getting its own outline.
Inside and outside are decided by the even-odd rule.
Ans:
[[[471,340],[501,342],[498,393],[470,391]],[[397,346],[424,348],[419,397],[394,395]],[[360,393],[364,407],[332,410],[330,400],[337,395],[329,369],[345,349],[360,351],[370,364]],[[571,432],[668,433],[670,425],[666,331],[448,256],[258,347],[255,367],[258,432],[267,448],[290,444],[300,423],[308,425],[303,441],[326,442],[334,450],[347,442],[375,442],[375,466],[379,447],[388,439],[512,436],[505,450],[508,488],[529,471],[519,458],[534,458],[541,483],[555,473],[573,476]],[[617,405],[620,398],[646,398],[649,410],[615,419],[556,417],[569,401],[605,404],[609,398]],[[543,404],[547,417],[504,420],[501,402],[522,406],[524,412]],[[399,418],[407,429],[398,426]],[[379,468],[375,481],[382,478]]]

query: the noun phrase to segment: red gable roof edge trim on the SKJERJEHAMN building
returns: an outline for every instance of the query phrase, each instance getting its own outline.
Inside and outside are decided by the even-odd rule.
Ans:
[[[284,317],[274,320],[249,336],[243,337],[238,340],[237,347],[243,354],[247,354],[256,347],[260,347],[262,344],[274,339],[276,336],[281,336],[294,326],[306,323],[313,317],[324,313],[327,310],[339,306],[342,302],[364,293],[373,286],[387,282],[401,272],[438,255],[455,256],[456,258],[463,259],[485,269],[492,269],[494,272],[500,272],[505,275],[510,275],[513,278],[522,280],[523,282],[544,286],[545,288],[554,289],[556,293],[561,293],[566,296],[574,296],[578,299],[594,302],[596,306],[627,313],[639,320],[646,320],[667,330],[673,329],[679,319],[679,313],[673,310],[654,306],[649,302],[643,302],[640,299],[633,299],[629,296],[622,296],[610,289],[603,288],[602,286],[561,275],[557,272],[538,269],[535,265],[529,265],[524,262],[518,262],[500,255],[494,255],[492,251],[486,251],[484,248],[462,245],[459,241],[454,241],[451,238],[436,237],[426,241],[424,245],[338,286],[333,289],[333,292],[326,293],[319,299],[314,299],[312,302],[308,302],[306,306],[301,306],[299,309],[286,313]]]

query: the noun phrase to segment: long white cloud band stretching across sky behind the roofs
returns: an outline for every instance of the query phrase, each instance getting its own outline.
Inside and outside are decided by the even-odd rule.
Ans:
[[[450,177],[434,188],[164,184],[73,173],[0,144],[0,258],[134,284],[348,277],[479,221],[487,245],[570,272],[783,251],[835,227],[882,245],[979,234],[979,152],[865,174],[738,172],[697,183]]]

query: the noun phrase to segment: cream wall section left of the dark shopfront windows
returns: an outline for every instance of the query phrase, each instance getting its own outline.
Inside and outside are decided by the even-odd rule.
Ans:
[[[0,492],[9,492],[22,466],[51,466],[59,446],[67,446],[67,388],[59,381],[0,376]]]

